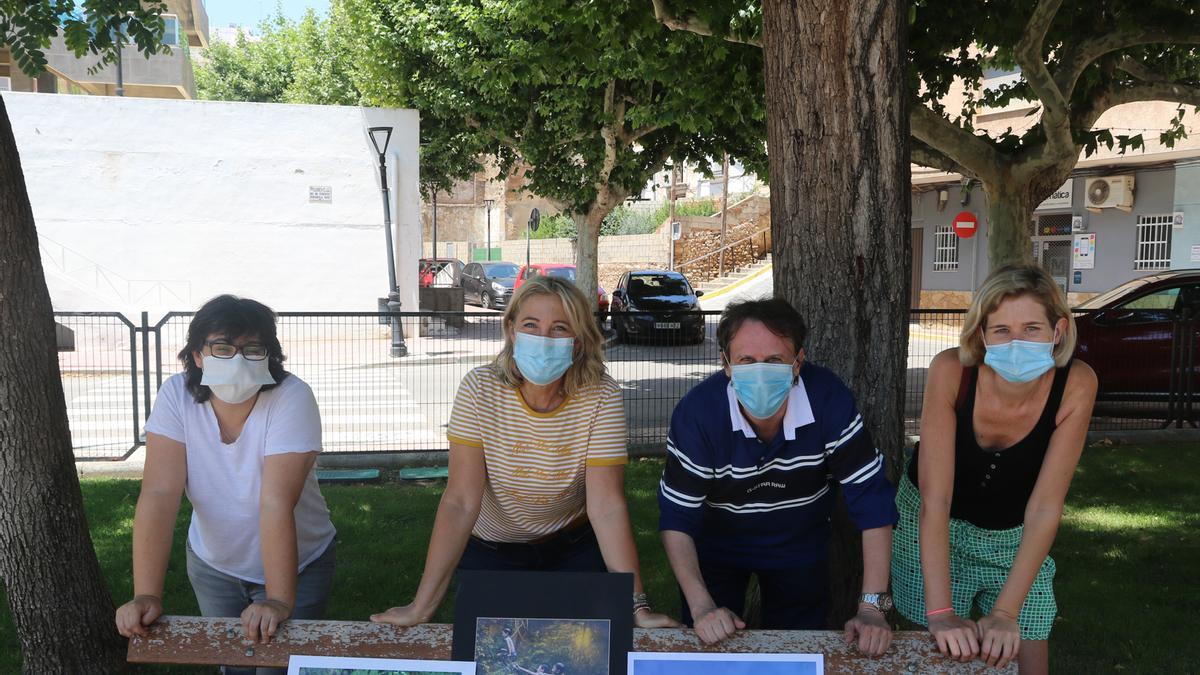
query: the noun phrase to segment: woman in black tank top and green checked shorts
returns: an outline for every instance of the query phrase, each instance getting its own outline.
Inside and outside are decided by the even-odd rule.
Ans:
[[[1096,401],[1096,375],[1074,348],[1058,286],[1010,265],[976,293],[960,346],[930,364],[892,575],[898,609],[947,656],[1049,668],[1048,554]],[[972,610],[984,616],[973,622]]]

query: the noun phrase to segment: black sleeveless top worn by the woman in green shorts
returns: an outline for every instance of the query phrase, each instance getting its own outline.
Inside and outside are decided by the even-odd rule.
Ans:
[[[1050,436],[1057,428],[1055,419],[1069,372],[1070,363],[1055,371],[1045,408],[1028,436],[1008,448],[996,450],[979,447],[976,440],[974,401],[979,366],[962,370],[962,383],[955,405],[958,424],[954,435],[954,496],[950,498],[950,518],[966,520],[985,530],[1008,530],[1025,522],[1025,506],[1042,471]],[[919,452],[918,443],[908,465],[908,478],[913,485],[920,484],[917,480]]]

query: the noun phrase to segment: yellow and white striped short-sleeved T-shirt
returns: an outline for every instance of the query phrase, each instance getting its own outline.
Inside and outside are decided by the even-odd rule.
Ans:
[[[487,484],[472,533],[490,542],[562,530],[587,510],[586,467],[629,460],[620,387],[607,375],[542,413],[492,365],[476,368],[458,387],[446,436],[484,452]]]

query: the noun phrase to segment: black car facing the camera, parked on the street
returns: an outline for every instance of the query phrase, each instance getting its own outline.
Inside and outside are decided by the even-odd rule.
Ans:
[[[622,275],[612,292],[612,327],[617,339],[668,338],[704,341],[704,317],[688,277],[678,271],[643,269]]]

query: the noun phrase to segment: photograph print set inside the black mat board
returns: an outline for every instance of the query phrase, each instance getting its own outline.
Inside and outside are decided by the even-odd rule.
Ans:
[[[607,619],[475,620],[480,675],[607,675]]]

